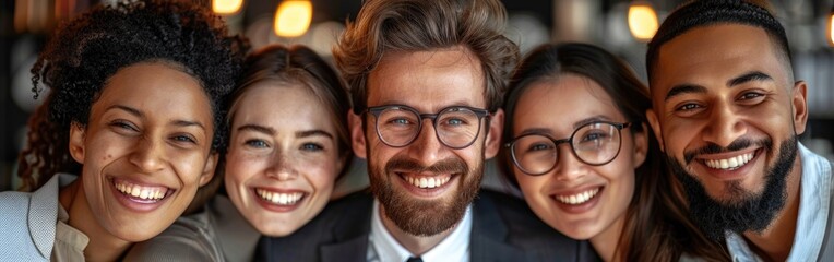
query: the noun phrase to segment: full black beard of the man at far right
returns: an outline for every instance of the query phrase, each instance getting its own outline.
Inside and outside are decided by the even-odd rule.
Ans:
[[[737,151],[752,144],[761,145],[765,152],[771,152],[773,147],[771,140],[756,142],[743,140],[734,142],[727,148],[710,145],[686,153],[684,158],[687,163],[690,163],[695,154]],[[726,184],[729,194],[734,196],[730,200],[714,200],[706,193],[701,181],[689,174],[682,164],[675,157],[665,155],[672,172],[683,184],[692,221],[708,238],[724,241],[724,234],[727,230],[737,234],[764,230],[784,207],[787,199],[787,177],[797,156],[797,138],[793,135],[779,146],[779,151],[776,152],[776,162],[765,170],[765,184],[761,192],[750,192],[742,188],[739,181],[730,181]]]

